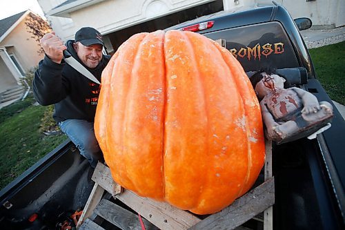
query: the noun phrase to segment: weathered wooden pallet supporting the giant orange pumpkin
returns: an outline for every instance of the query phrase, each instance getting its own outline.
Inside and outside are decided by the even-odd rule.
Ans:
[[[188,211],[172,207],[165,202],[141,198],[121,188],[112,180],[110,169],[97,164],[92,180],[95,186],[86,202],[77,229],[103,229],[93,220],[101,217],[120,229],[141,229],[139,215],[128,211],[104,198],[104,191],[127,207],[139,213],[146,229],[246,229],[241,224],[263,213],[264,229],[273,229],[272,206],[275,202],[274,178],[272,176],[272,143],[266,141],[265,181],[222,211],[201,220]],[[103,196],[103,199],[102,199]]]

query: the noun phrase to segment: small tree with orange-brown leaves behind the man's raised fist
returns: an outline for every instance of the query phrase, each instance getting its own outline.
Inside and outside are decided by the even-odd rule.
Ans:
[[[40,47],[37,51],[39,55],[44,53],[43,48],[41,47],[41,44],[39,43],[39,40],[45,35],[47,32],[51,32],[52,28],[50,27],[49,23],[45,20],[43,20],[38,15],[33,14],[30,12],[28,14],[28,17],[26,17],[26,31],[30,32],[32,34],[32,38],[37,41],[38,46]]]

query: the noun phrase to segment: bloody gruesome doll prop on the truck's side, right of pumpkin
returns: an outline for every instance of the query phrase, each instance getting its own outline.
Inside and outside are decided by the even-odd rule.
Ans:
[[[319,103],[313,94],[301,88],[284,88],[284,77],[259,71],[250,82],[261,100],[268,139],[277,144],[302,137],[313,139],[317,133],[331,127],[331,104]]]

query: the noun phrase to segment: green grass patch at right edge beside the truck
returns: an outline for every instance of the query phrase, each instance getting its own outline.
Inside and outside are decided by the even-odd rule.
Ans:
[[[309,52],[319,82],[333,101],[345,105],[345,41]]]

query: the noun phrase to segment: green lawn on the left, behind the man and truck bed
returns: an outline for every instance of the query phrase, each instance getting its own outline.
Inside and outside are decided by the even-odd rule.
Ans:
[[[31,104],[27,99],[0,111],[0,189],[66,140],[39,131],[46,107]]]

